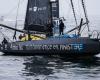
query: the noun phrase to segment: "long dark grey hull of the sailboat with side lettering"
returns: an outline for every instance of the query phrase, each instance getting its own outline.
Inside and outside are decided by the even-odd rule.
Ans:
[[[89,38],[49,38],[1,45],[0,51],[6,55],[93,56],[100,53],[100,42]]]

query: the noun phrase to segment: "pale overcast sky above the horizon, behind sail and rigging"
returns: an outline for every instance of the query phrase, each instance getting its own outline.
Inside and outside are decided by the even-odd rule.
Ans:
[[[3,15],[8,13],[10,14],[10,11],[13,11],[12,13],[16,13],[16,7],[18,1],[19,0],[0,0],[0,14]],[[60,0],[61,4],[60,9],[62,10],[63,13],[68,12],[68,6],[69,6],[69,4],[67,4],[68,1],[70,0]],[[79,3],[80,0],[73,0],[73,1],[76,2],[77,6],[77,3]],[[85,2],[86,2],[87,12],[89,15],[100,15],[100,0],[85,0]],[[21,0],[20,14],[25,13],[26,5],[27,5],[27,0]]]

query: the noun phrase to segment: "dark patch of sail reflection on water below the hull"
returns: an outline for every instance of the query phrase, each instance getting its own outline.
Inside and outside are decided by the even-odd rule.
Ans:
[[[27,76],[53,74],[52,69],[49,68],[49,61],[43,57],[27,58],[23,65],[25,65],[24,74]]]

